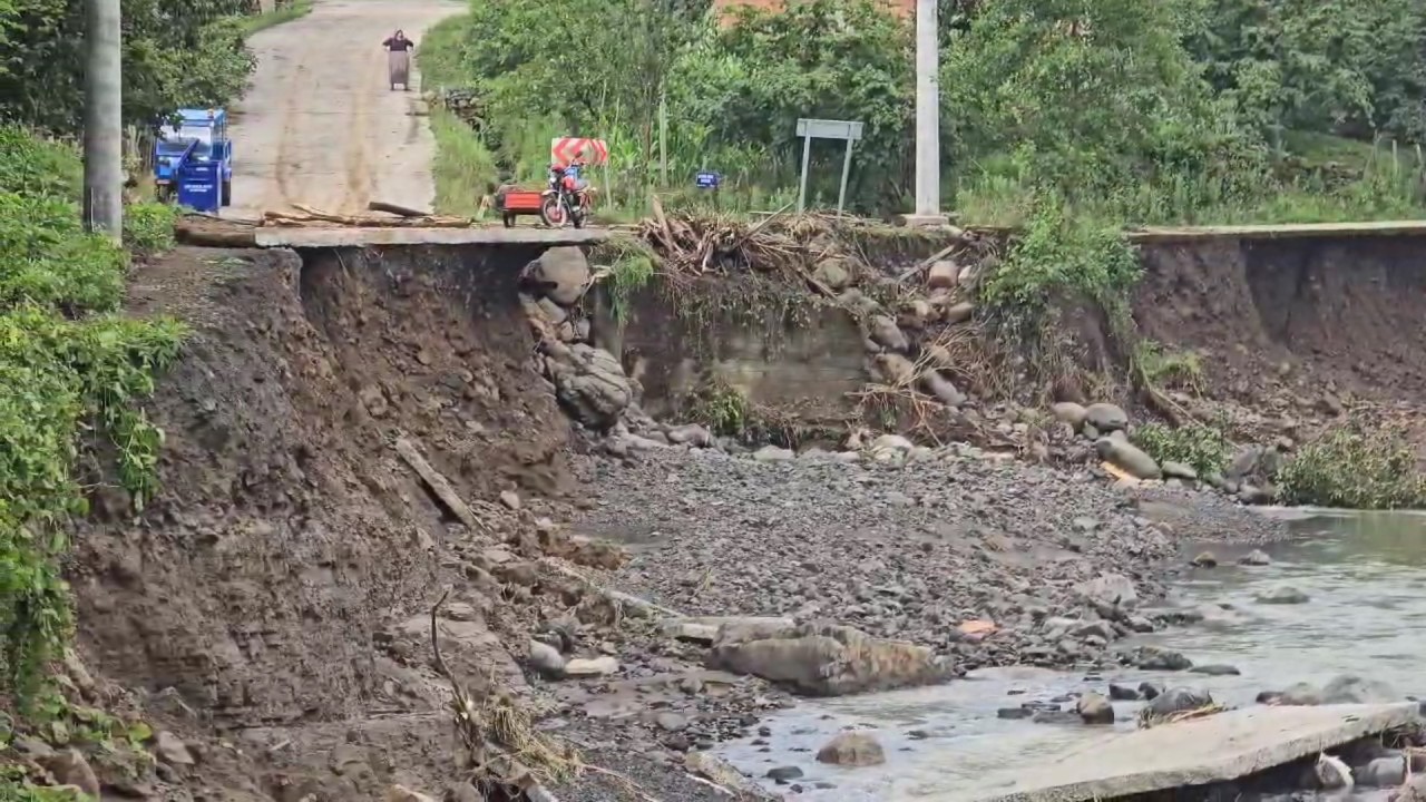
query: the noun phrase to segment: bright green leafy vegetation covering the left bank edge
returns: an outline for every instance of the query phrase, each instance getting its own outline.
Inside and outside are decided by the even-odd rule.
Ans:
[[[151,498],[163,432],[138,401],[184,330],[117,314],[128,254],[81,230],[73,148],[17,128],[0,144],[0,695],[43,714],[70,632],[67,525],[87,509],[77,461],[113,454],[135,508]],[[135,250],[171,241],[171,211],[130,211]]]

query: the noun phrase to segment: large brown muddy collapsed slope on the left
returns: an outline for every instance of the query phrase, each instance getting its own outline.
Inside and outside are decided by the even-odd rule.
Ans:
[[[378,265],[358,251],[304,264],[285,251],[185,250],[135,277],[134,311],[183,317],[195,333],[151,410],[168,438],[161,495],[131,519],[98,491],[78,532],[80,645],[106,679],[153,695],[160,725],[288,743],[271,771],[208,751],[201,771],[220,798],[299,786],[378,798],[399,772],[428,788],[449,772],[422,641],[442,585],[462,601],[451,549],[465,535],[392,444],[411,437],[478,505],[503,489],[565,489],[569,430],[526,365],[515,301],[532,254],[509,251],[405,250]],[[528,502],[523,525],[545,509]],[[495,537],[522,525],[478,511]],[[404,619],[405,645],[391,631]],[[458,668],[502,659],[483,626],[451,626]],[[329,753],[348,742],[376,756]],[[348,759],[364,769],[339,771]]]

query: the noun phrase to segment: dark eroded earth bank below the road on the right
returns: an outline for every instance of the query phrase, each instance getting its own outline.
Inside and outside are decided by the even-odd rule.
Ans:
[[[1422,245],[1412,237],[1147,245],[1135,318],[1148,337],[1204,351],[1214,384],[1242,400],[1263,390],[1419,398]]]

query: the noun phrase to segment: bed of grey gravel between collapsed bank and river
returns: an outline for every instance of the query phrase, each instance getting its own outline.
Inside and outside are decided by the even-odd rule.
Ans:
[[[1128,597],[1161,598],[1189,544],[1285,537],[1212,492],[1117,488],[958,447],[881,458],[586,457],[578,528],[629,544],[635,558],[610,579],[673,609],[833,619],[953,654],[965,669],[1099,662],[1104,635],[1152,624]],[[1088,601],[1087,584],[1124,604],[1102,591]],[[963,635],[970,621],[998,631]]]

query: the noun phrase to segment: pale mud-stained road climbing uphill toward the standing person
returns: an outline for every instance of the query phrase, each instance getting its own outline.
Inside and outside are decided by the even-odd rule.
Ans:
[[[428,208],[435,143],[411,91],[386,84],[384,39],[421,39],[465,6],[442,0],[317,0],[311,14],[255,34],[252,88],[235,107],[230,217],[292,203],[358,211],[371,200]]]

